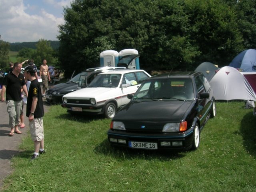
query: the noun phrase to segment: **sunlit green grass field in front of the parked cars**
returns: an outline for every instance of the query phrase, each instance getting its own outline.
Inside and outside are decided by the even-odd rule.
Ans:
[[[244,102],[217,102],[196,151],[112,148],[110,120],[71,116],[52,106],[44,117],[46,154],[30,162],[33,142],[12,159],[6,192],[255,192],[256,117]]]

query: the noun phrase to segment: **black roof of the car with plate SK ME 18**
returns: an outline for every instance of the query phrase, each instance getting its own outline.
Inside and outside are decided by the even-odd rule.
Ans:
[[[170,73],[166,73],[166,74],[158,74],[155,76],[152,76],[150,79],[152,78],[192,78],[194,76],[197,76],[199,74],[202,74],[202,72],[198,72],[198,71],[183,71],[183,72],[170,72]]]

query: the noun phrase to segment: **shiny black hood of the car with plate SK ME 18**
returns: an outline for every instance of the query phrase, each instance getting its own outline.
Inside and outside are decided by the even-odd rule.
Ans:
[[[194,101],[131,101],[113,120],[127,122],[180,122],[194,106]]]

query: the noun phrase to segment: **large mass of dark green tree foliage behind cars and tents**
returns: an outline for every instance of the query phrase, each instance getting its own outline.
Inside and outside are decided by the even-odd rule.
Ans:
[[[255,5],[241,2],[74,0],[59,26],[60,64],[69,76],[99,66],[104,50],[134,48],[141,68],[194,70],[205,61],[228,65],[255,43],[256,30],[249,27]]]

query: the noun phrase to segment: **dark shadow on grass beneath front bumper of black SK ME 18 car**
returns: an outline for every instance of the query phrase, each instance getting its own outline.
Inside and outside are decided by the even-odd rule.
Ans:
[[[170,152],[170,151],[158,151],[158,150],[134,150],[128,148],[118,148],[110,146],[108,139],[103,140],[98,146],[94,148],[96,153],[111,156],[118,160],[127,159],[144,159],[170,161],[176,160],[186,156],[186,152]]]

